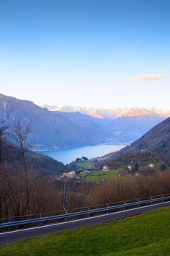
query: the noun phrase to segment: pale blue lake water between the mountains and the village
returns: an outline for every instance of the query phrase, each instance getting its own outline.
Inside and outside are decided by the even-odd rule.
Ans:
[[[74,161],[78,157],[102,157],[104,154],[119,150],[123,148],[123,145],[97,145],[97,146],[84,146],[78,148],[68,148],[58,151],[45,151],[40,154],[45,154],[49,157],[53,157],[64,164]]]

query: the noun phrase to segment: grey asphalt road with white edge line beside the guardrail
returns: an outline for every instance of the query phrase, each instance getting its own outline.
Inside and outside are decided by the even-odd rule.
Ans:
[[[123,219],[125,217],[131,217],[136,214],[142,214],[144,211],[148,211],[155,208],[161,208],[164,206],[170,206],[170,202],[157,203],[155,205],[142,206],[139,208],[128,209],[125,211],[117,211],[115,213],[103,214],[95,217],[76,219],[68,222],[43,225],[39,227],[30,227],[23,230],[8,231],[5,233],[0,233],[0,245],[13,243],[15,241],[23,240],[26,238],[45,236],[49,233],[55,233],[60,230],[70,230],[78,227],[88,227],[90,225],[98,225],[104,222],[110,222],[112,220]]]

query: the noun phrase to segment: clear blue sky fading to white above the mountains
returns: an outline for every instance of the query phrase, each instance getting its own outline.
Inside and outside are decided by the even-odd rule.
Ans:
[[[170,1],[0,0],[0,93],[170,109]]]

